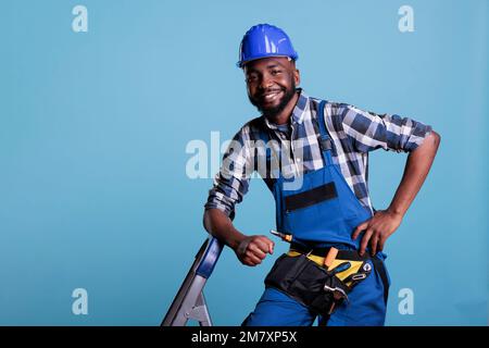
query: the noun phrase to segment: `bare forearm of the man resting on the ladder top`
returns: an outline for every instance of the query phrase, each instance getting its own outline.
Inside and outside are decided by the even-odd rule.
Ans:
[[[203,216],[204,228],[231,249],[236,249],[246,236],[235,228],[230,219],[218,209],[209,209]]]

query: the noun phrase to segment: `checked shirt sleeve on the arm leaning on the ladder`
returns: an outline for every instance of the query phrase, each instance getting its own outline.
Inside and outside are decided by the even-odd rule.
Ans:
[[[249,147],[249,132],[243,126],[233,138],[223,156],[223,164],[209,190],[205,210],[218,209],[229,217],[235,215],[235,206],[248,192],[252,174],[252,151]]]

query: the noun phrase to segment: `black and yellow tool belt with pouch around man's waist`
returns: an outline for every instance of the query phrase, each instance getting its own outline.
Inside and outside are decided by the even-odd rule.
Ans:
[[[367,253],[361,257],[356,250],[339,250],[326,269],[323,261],[328,250],[292,244],[290,251],[275,261],[265,286],[287,294],[316,314],[330,315],[337,304],[348,301],[348,294],[368,276],[372,266]]]

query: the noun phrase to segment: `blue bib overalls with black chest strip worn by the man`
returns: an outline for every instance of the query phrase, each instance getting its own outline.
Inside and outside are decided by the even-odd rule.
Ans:
[[[324,121],[325,103],[321,101],[316,113],[325,165],[304,173],[302,185],[297,189],[289,189],[293,187],[290,185],[293,178],[285,178],[281,173],[268,186],[275,198],[277,229],[292,234],[294,243],[308,247],[358,250],[361,237],[352,240],[351,235],[358,225],[372,217],[372,213],[360,203],[339,166],[333,162],[333,141]],[[384,325],[389,281],[383,263],[385,254],[379,252],[375,258],[367,261],[375,272],[352,289],[349,301],[342,302],[328,319],[328,326]],[[315,319],[316,314],[304,304],[266,287],[242,325],[309,326]]]

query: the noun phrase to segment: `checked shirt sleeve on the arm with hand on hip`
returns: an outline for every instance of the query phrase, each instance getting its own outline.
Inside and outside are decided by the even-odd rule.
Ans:
[[[397,114],[376,114],[352,105],[341,111],[344,135],[360,152],[375,149],[397,152],[415,150],[431,132],[431,126]]]

